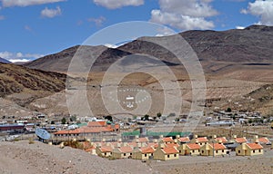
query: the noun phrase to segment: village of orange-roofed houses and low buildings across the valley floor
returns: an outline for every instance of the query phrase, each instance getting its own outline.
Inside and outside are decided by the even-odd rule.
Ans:
[[[254,119],[260,120],[261,117],[258,114],[256,115]],[[200,124],[205,129],[207,126],[228,128],[234,124],[244,124],[240,121],[242,117],[239,116],[234,119],[234,114],[229,115],[230,120],[228,121],[227,119],[219,120],[228,117],[224,111],[215,112],[213,116],[204,117],[203,123],[205,124],[202,121]],[[172,116],[168,118],[172,118]],[[248,115],[243,118],[249,119]],[[7,117],[5,122],[8,119],[15,118]],[[34,134],[35,129],[42,128],[51,134],[51,138],[45,140],[45,143],[49,145],[56,145],[61,149],[69,146],[109,160],[135,159],[146,161],[177,160],[182,156],[255,156],[263,155],[266,150],[272,149],[272,139],[265,136],[252,135],[251,138],[249,136],[246,138],[233,134],[227,139],[224,136],[217,137],[216,134],[210,137],[199,137],[197,133],[187,131],[148,131],[151,127],[168,127],[174,125],[173,123],[180,125],[185,122],[183,117],[167,120],[159,113],[156,118],[143,116],[142,118],[136,117],[136,120],[126,119],[124,121],[116,121],[110,116],[102,119],[64,116],[61,121],[48,121],[47,117],[41,113],[36,115],[35,119],[31,118],[30,122],[27,122],[25,118],[19,119],[21,121],[15,121],[16,123],[10,122],[0,125],[2,134],[9,133],[14,138],[6,139],[8,136],[5,136],[3,140],[20,140],[20,137],[15,135],[21,134],[21,137],[25,137],[32,143],[37,140],[37,135]],[[22,121],[22,119],[25,120]],[[263,122],[269,122],[269,119]],[[232,122],[232,124],[227,124],[228,122]],[[254,122],[251,121],[250,125],[256,126],[256,124],[252,124]],[[41,140],[41,137],[38,138]]]

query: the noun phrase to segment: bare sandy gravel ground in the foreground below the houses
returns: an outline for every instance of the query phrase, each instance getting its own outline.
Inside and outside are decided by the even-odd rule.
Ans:
[[[263,156],[180,157],[179,160],[107,160],[83,150],[60,149],[39,141],[0,142],[0,173],[260,173],[272,174],[273,150]]]

